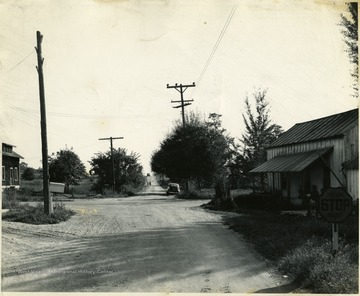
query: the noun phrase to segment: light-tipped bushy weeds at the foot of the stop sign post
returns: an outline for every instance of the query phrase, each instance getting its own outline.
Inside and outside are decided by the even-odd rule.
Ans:
[[[340,244],[332,255],[329,240],[313,238],[279,261],[279,270],[303,281],[316,293],[358,293],[358,250]]]

